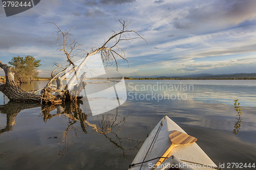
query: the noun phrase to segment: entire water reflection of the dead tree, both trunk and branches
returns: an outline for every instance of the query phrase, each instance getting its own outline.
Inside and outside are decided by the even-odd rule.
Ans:
[[[0,112],[6,114],[7,117],[6,127],[0,130],[0,134],[13,130],[15,117],[20,111],[34,107],[41,107],[40,116],[45,123],[53,117],[61,115],[65,115],[67,118],[67,128],[63,133],[61,133],[61,142],[58,143],[58,155],[60,157],[65,156],[66,151],[69,152],[69,142],[75,143],[75,138],[79,138],[78,131],[80,128],[84,134],[87,134],[88,131],[91,130],[93,133],[103,135],[108,139],[107,141],[113,144],[114,148],[122,150],[123,156],[125,156],[125,151],[139,149],[139,145],[142,141],[126,138],[123,137],[124,135],[119,134],[119,131],[125,125],[127,115],[119,115],[118,109],[116,108],[115,114],[91,116],[90,119],[89,117],[91,114],[82,112],[82,109],[80,108],[81,105],[82,101],[51,106],[9,102],[6,105],[0,106]],[[78,124],[80,128],[75,126],[76,124]],[[48,139],[52,138],[57,137],[51,136]]]

